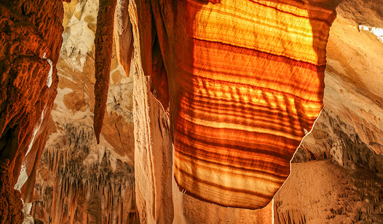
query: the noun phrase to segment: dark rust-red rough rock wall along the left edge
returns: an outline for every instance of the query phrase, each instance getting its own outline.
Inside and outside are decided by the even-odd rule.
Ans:
[[[33,189],[57,93],[62,18],[61,0],[0,1],[0,223],[22,222],[13,186],[25,156],[31,174],[21,189],[26,201]]]

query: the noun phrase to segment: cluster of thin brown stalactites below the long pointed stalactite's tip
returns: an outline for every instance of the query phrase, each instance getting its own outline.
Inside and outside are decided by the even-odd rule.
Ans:
[[[37,199],[31,209],[34,220],[54,224],[138,220],[134,168],[94,141],[90,126],[68,123],[44,151],[37,177],[43,181],[36,184]]]

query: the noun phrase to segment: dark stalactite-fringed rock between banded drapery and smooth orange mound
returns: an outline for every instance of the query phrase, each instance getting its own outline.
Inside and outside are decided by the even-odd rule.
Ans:
[[[312,135],[314,143],[304,142],[292,162],[331,158],[346,168],[364,167],[383,174],[383,157],[361,140],[355,129],[342,122],[334,112],[324,109]]]

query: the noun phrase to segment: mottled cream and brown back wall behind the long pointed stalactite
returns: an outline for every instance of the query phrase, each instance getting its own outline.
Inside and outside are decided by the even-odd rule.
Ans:
[[[134,196],[133,79],[118,63],[115,43],[107,73],[110,82],[99,144],[93,130],[98,3],[64,3],[65,29],[57,63],[60,82],[28,215],[36,222],[138,222]]]

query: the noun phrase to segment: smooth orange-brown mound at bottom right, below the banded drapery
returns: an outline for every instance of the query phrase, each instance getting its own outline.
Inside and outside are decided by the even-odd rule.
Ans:
[[[383,176],[331,160],[293,163],[275,196],[275,224],[379,224]]]

